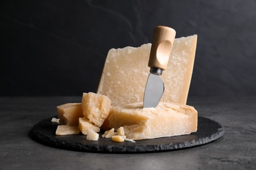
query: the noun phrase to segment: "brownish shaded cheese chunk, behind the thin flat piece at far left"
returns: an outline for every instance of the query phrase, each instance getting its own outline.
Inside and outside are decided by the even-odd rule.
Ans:
[[[83,117],[81,103],[66,103],[64,105],[59,105],[57,106],[57,111],[60,124],[68,126],[77,126],[78,118]]]

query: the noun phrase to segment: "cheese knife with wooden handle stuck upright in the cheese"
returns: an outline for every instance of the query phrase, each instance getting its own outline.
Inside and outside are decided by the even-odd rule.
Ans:
[[[166,69],[176,31],[171,27],[157,26],[154,29],[148,67],[150,74],[144,90],[143,108],[157,107],[164,92],[160,75]]]

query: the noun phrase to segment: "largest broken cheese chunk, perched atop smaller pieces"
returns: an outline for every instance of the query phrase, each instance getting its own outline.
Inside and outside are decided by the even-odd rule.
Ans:
[[[89,92],[83,93],[81,105],[83,115],[87,116],[90,122],[100,127],[108,117],[111,101],[105,95]]]

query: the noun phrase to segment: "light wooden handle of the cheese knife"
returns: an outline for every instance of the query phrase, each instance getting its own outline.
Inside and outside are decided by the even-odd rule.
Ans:
[[[148,67],[166,69],[175,35],[176,31],[171,27],[157,26],[154,29]]]

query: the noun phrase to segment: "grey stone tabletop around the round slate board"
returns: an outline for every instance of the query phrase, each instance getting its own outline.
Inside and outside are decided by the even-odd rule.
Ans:
[[[81,97],[0,97],[0,169],[256,169],[256,97],[189,97],[198,115],[224,126],[212,143],[167,152],[113,154],[62,150],[30,137]]]

